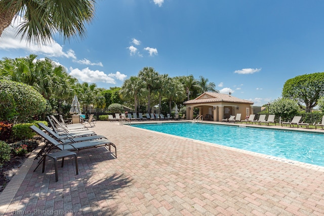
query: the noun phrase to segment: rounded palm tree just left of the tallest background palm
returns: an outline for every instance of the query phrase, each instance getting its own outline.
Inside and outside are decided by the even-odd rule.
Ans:
[[[137,113],[137,105],[139,97],[141,96],[144,83],[142,79],[138,76],[131,76],[129,79],[126,79],[121,86],[120,95],[123,98],[134,98],[134,110]]]

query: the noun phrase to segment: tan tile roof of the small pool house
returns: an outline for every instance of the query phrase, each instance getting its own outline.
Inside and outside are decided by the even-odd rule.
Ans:
[[[231,95],[215,93],[215,92],[205,92],[204,94],[198,96],[197,98],[189,101],[185,101],[184,104],[200,104],[200,103],[213,103],[213,102],[231,102],[240,104],[254,104],[252,101],[243,100],[236,98]]]

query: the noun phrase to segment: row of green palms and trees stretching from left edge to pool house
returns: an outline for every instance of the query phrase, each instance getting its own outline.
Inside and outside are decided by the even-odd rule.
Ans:
[[[170,77],[168,74],[159,74],[152,67],[144,67],[138,76],[126,79],[121,87],[109,90],[98,88],[96,83],[79,83],[69,75],[65,67],[57,65],[49,58],[36,59],[36,55],[24,58],[3,58],[0,60],[0,79],[22,82],[32,86],[47,101],[42,118],[47,114],[59,112],[67,113],[73,96],[76,95],[88,112],[88,106],[105,111],[110,104],[118,103],[134,108],[138,107],[149,111],[152,106],[182,104],[184,100],[197,97],[206,91],[214,91],[215,83],[200,76],[193,75]]]

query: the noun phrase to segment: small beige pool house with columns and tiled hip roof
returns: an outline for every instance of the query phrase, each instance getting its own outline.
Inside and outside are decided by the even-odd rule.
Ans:
[[[204,120],[222,121],[231,115],[241,113],[241,119],[253,114],[254,102],[233,97],[230,94],[205,92],[199,97],[185,101],[186,118],[193,119],[194,108],[199,108],[199,115]]]

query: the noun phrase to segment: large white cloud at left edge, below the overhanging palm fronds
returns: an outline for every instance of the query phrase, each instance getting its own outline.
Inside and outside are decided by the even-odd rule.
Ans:
[[[20,21],[20,22],[19,22]],[[18,18],[17,21],[11,22],[11,25],[6,28],[0,37],[0,49],[10,50],[10,49],[23,49],[28,53],[44,54],[49,57],[66,57],[76,59],[73,50],[63,51],[63,47],[59,45],[56,41],[52,40],[48,45],[37,45],[31,42],[29,45],[26,36],[20,40],[21,35],[17,35],[17,27],[22,22],[22,18]]]

